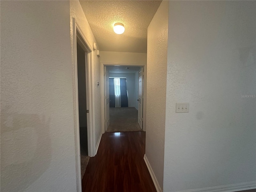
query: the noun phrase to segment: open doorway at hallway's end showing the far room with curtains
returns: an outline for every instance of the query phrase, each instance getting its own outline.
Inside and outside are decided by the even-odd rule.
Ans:
[[[104,66],[104,131],[142,130],[143,69],[143,66]]]

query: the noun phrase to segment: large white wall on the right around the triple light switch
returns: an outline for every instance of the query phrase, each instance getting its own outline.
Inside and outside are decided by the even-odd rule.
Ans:
[[[166,192],[256,185],[256,98],[241,98],[256,94],[255,7],[169,2]],[[190,112],[175,113],[176,102]]]

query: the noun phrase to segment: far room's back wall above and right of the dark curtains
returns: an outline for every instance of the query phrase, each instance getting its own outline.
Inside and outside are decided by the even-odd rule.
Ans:
[[[110,73],[109,77],[125,77],[128,93],[128,107],[135,107],[135,88],[134,88],[134,73]]]

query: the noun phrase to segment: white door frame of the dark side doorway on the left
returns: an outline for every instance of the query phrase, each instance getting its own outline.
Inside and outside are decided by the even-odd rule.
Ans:
[[[78,104],[78,72],[77,72],[77,42],[85,50],[86,54],[86,108],[87,114],[87,138],[88,138],[88,156],[95,156],[95,130],[94,130],[94,108],[93,108],[93,49],[90,46],[86,36],[78,26],[75,18],[73,23],[73,51],[74,51],[74,134],[75,134],[75,153],[76,153],[76,184],[77,191],[82,191],[81,161],[80,161],[80,127],[79,127],[79,104]]]

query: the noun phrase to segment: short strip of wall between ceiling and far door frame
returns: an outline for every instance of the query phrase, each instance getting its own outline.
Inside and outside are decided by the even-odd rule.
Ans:
[[[101,51],[100,62],[103,63],[125,63],[125,64],[139,64],[146,65],[146,53],[130,53],[130,52],[111,52]]]

